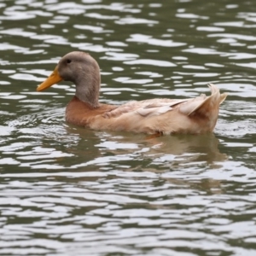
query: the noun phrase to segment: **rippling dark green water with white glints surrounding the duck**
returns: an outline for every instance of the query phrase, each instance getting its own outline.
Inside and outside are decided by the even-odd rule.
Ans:
[[[164,1],[163,1],[164,2]],[[253,1],[0,1],[1,255],[255,255]],[[149,139],[65,123],[62,55],[101,102],[228,92],[214,134]]]

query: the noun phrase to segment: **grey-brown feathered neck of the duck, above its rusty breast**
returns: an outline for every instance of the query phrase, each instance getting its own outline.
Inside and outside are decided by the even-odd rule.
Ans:
[[[90,105],[91,108],[98,108],[99,94],[101,88],[101,74],[99,70],[81,70],[81,74],[76,78],[76,96],[81,102]]]

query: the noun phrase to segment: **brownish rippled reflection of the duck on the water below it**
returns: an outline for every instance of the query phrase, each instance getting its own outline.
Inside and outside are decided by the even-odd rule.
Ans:
[[[107,172],[105,178],[124,178],[132,187],[134,181],[143,188],[148,186],[150,176],[146,172],[160,173],[158,183],[173,184],[177,189],[199,189],[209,194],[222,193],[218,178],[205,176],[207,170],[221,169],[228,156],[218,149],[219,140],[212,134],[198,136],[178,135],[147,137],[132,133],[90,131],[67,126],[67,133],[79,137],[79,143],[72,147],[76,172]],[[133,174],[125,172],[132,172]],[[134,175],[137,172],[141,174]],[[106,173],[106,174],[107,174]],[[143,173],[145,175],[143,175]],[[201,176],[201,173],[203,176]],[[114,174],[114,175],[113,175]],[[119,176],[120,175],[120,176]],[[79,177],[86,181],[98,181],[98,176]],[[150,180],[150,178],[149,178]],[[160,185],[161,186],[161,185]],[[171,185],[172,186],[172,185]],[[150,206],[148,207],[156,207]],[[158,207],[166,207],[159,205]]]

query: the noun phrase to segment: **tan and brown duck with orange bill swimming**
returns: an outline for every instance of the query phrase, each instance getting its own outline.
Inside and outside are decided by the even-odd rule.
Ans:
[[[211,95],[186,99],[154,98],[123,105],[99,102],[101,73],[88,53],[73,51],[64,55],[53,73],[38,85],[48,89],[64,81],[75,84],[75,95],[67,104],[66,121],[96,131],[128,131],[148,135],[201,134],[212,132],[218,120],[219,105],[227,94],[208,84]]]

